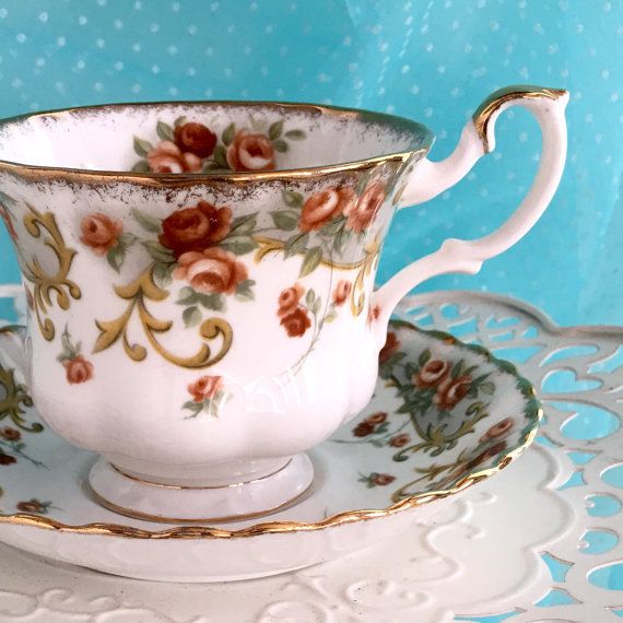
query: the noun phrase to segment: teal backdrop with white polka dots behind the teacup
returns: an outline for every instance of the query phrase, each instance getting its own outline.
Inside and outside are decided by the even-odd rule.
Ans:
[[[0,116],[153,99],[330,103],[425,122],[436,160],[480,101],[513,83],[572,92],[562,186],[538,226],[479,275],[420,290],[487,290],[561,324],[621,324],[621,1],[0,0]],[[396,216],[379,282],[518,204],[539,131],[524,111],[497,130],[496,152],[463,181]],[[4,232],[0,249],[0,282],[16,283]]]

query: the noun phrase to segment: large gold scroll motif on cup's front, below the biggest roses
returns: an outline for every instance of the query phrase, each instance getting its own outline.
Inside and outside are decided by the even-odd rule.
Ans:
[[[136,313],[150,345],[169,363],[186,368],[204,368],[220,362],[232,348],[234,338],[232,326],[222,318],[209,318],[203,320],[199,327],[199,336],[204,340],[204,343],[201,344],[199,351],[193,355],[187,357],[175,355],[158,342],[157,336],[171,330],[173,321],[161,320],[148,309],[148,301],[157,303],[168,297],[168,292],[154,283],[154,267],[155,263],[127,285],[115,286],[115,294],[117,294],[119,298],[127,301],[128,306],[126,310],[114,320],[95,321],[99,329],[99,336],[95,341],[93,352],[98,353],[105,351],[118,340],[121,340],[126,354],[134,362],[142,362],[148,356],[146,348],[137,342],[132,342],[128,337],[129,324]],[[213,354],[212,349],[205,342],[215,340],[216,338],[221,338],[222,343],[221,349]]]

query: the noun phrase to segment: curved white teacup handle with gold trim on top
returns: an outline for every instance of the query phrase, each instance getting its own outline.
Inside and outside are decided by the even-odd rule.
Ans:
[[[495,148],[495,121],[510,106],[530,110],[541,127],[543,153],[534,183],[519,208],[497,230],[475,240],[448,238],[435,252],[411,263],[377,290],[371,302],[378,312],[379,343],[385,341],[389,316],[415,285],[448,272],[475,274],[487,260],[521,239],[552,200],[563,173],[568,92],[539,86],[508,86],[492,93],[466,125],[455,151],[440,162],[425,158],[416,165],[400,198],[399,208],[422,203],[463,178],[484,154]]]

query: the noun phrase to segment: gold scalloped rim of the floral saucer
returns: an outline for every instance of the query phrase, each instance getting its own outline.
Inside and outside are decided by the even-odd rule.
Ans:
[[[239,530],[225,530],[222,528],[212,528],[209,526],[184,526],[169,528],[167,530],[152,531],[142,528],[124,526],[120,524],[92,522],[72,526],[62,524],[56,519],[40,517],[38,515],[31,515],[27,513],[15,513],[11,515],[0,514],[0,524],[28,526],[32,528],[42,528],[77,534],[99,534],[125,537],[130,539],[233,539],[257,537],[259,534],[269,533],[310,532],[314,530],[322,530],[325,528],[343,526],[345,524],[353,524],[355,521],[366,521],[369,519],[377,519],[379,517],[396,515],[397,513],[402,513],[404,510],[409,510],[424,504],[430,504],[435,499],[449,497],[450,495],[460,493],[473,484],[477,484],[495,475],[505,467],[510,465],[515,459],[517,459],[517,457],[521,455],[521,452],[524,452],[524,450],[530,446],[530,444],[532,444],[537,436],[539,424],[543,418],[543,409],[540,401],[537,399],[537,392],[532,384],[519,374],[517,367],[514,364],[495,357],[489,350],[483,346],[467,344],[444,331],[427,331],[420,329],[415,327],[415,325],[407,322],[404,320],[395,320],[391,322],[391,325],[402,328],[411,328],[425,336],[442,340],[447,344],[457,345],[458,348],[471,351],[480,356],[483,356],[487,363],[494,364],[501,372],[514,376],[518,381],[517,390],[521,392],[522,397],[526,400],[524,415],[527,420],[534,422],[533,427],[521,437],[519,445],[508,451],[499,454],[497,461],[493,467],[474,471],[461,478],[454,486],[449,489],[411,495],[386,508],[344,510],[342,513],[331,515],[321,521],[309,524],[303,521],[262,521],[260,524],[256,524],[247,528],[242,528]],[[17,328],[19,327],[16,326],[3,327],[2,332],[11,332]]]

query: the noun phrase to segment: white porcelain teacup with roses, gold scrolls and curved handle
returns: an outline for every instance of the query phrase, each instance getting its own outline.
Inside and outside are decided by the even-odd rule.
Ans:
[[[28,328],[3,334],[47,424],[101,455],[89,481],[136,517],[230,520],[293,503],[305,450],[369,400],[398,301],[475,273],[559,184],[565,91],[494,93],[445,161],[424,126],[306,104],[169,103],[0,124],[0,204]],[[449,239],[374,290],[397,208],[494,148],[507,106],[543,132],[534,186],[479,240]],[[451,388],[450,388],[451,389]]]

